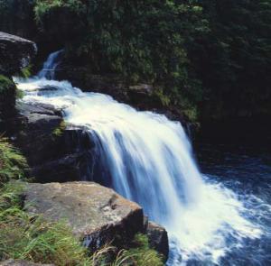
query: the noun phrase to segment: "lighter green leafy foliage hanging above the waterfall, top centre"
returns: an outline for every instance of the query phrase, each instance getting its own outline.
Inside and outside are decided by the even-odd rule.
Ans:
[[[92,72],[164,87],[164,105],[190,107],[201,99],[185,48],[186,39],[192,43],[208,29],[197,1],[37,1],[35,15],[51,38],[60,35],[54,24],[70,32],[66,57],[91,62]]]

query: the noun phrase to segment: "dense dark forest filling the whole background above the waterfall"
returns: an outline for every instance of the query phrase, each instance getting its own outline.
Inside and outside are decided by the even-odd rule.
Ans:
[[[0,9],[0,30],[32,29],[89,72],[153,83],[191,118],[271,113],[270,0],[0,0]]]

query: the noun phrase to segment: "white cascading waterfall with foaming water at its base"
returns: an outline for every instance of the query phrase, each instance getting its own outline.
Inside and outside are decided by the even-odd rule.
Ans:
[[[52,57],[44,68],[52,68]],[[43,71],[40,77],[48,77]],[[136,111],[110,96],[83,93],[68,81],[32,78],[16,82],[24,91],[23,101],[60,107],[67,122],[84,125],[90,137],[95,135],[110,185],[138,202],[146,215],[167,229],[168,265],[185,265],[190,260],[219,263],[244,239],[262,234],[261,228],[243,216],[248,210],[231,190],[201,176],[182,124],[164,115]],[[55,89],[40,90],[48,86]]]

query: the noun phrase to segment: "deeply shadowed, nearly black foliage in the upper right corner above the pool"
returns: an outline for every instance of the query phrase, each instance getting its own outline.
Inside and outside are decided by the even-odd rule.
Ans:
[[[271,1],[201,1],[210,33],[190,46],[208,118],[271,115]]]

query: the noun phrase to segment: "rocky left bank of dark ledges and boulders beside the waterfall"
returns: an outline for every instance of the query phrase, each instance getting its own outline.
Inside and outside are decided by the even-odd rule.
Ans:
[[[23,210],[29,216],[42,216],[48,222],[65,221],[91,252],[108,243],[118,250],[129,249],[133,247],[136,234],[145,234],[150,247],[166,260],[167,233],[160,225],[148,222],[141,206],[120,197],[110,188],[81,181],[88,179],[89,161],[93,156],[93,143],[84,138],[84,128],[65,124],[61,110],[51,105],[20,100],[15,105],[16,88],[9,78],[33,59],[34,43],[1,32],[0,48],[5,57],[1,61],[1,73],[7,76],[13,90],[11,100],[8,95],[1,94],[1,115],[5,121],[1,131],[10,128],[13,120],[13,131],[7,136],[12,137],[26,157],[28,175],[40,182],[22,183]],[[9,115],[6,115],[7,110]],[[98,177],[95,180],[98,181]],[[28,265],[27,261],[1,263]]]

